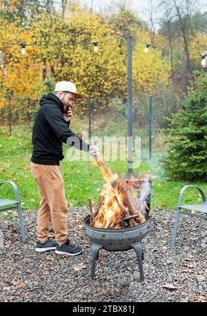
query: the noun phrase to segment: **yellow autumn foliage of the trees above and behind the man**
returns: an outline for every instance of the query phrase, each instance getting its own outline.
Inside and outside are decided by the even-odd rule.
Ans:
[[[1,1],[1,6],[2,6]],[[21,6],[21,1],[12,1],[8,10]],[[135,32],[135,27],[133,28]],[[92,42],[119,37],[120,33],[110,27],[99,15],[90,10],[80,9],[77,3],[70,6],[64,19],[56,14],[51,18],[39,9],[34,18],[30,16],[28,26],[22,26],[19,16],[8,21],[0,17],[0,38],[3,42],[19,45],[0,44],[3,51],[7,75],[0,69],[1,95],[22,96],[38,99],[45,88],[46,74],[59,80],[75,82],[77,90],[84,96],[99,96],[100,99],[118,96],[127,97],[126,40],[98,44],[95,53]],[[137,30],[137,37],[150,42],[147,30]],[[161,38],[158,38],[161,41]],[[57,44],[57,46],[26,46],[26,55],[21,55],[21,43]],[[70,43],[71,45],[67,45]],[[77,45],[72,45],[79,43]],[[61,45],[59,45],[61,44]],[[65,46],[63,46],[65,44]],[[85,44],[85,45],[83,45]],[[134,94],[151,94],[166,85],[169,76],[168,62],[160,51],[149,49],[144,53],[144,45],[135,42],[132,54],[132,77]],[[3,107],[1,100],[0,107]],[[23,107],[23,103],[15,103]],[[7,103],[6,103],[7,106]]]

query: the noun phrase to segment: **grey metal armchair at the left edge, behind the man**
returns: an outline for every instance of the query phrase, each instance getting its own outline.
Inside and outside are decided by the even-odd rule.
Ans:
[[[19,200],[17,185],[12,181],[4,181],[4,182],[0,182],[0,186],[2,184],[5,184],[5,183],[12,185],[12,187],[14,189],[15,200],[1,200],[0,199],[0,212],[7,211],[9,209],[17,209],[18,215],[19,215],[19,225],[21,228],[21,236],[22,236],[22,240],[25,241],[26,240],[26,233],[25,233],[25,230],[23,227],[23,218],[22,218],[22,213],[21,213],[21,202]],[[2,207],[4,207],[4,208],[2,208]]]

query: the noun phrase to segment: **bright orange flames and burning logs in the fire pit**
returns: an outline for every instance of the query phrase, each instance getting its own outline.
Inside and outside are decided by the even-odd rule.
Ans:
[[[98,228],[114,228],[123,227],[128,220],[129,226],[137,226],[146,221],[145,216],[141,213],[141,208],[146,208],[144,198],[146,191],[139,188],[139,197],[137,191],[133,197],[133,182],[126,182],[123,177],[112,174],[110,169],[104,164],[100,157],[97,157],[97,163],[103,174],[105,184],[101,191],[97,210],[91,216],[90,225]],[[139,180],[135,184],[141,184]],[[136,202],[138,198],[138,203]],[[133,211],[133,212],[132,212]]]

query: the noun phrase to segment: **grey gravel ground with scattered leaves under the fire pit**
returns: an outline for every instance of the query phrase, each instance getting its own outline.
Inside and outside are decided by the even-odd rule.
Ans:
[[[176,247],[171,250],[175,211],[152,210],[152,227],[143,240],[145,281],[141,283],[134,250],[101,250],[96,277],[90,279],[91,242],[83,226],[86,215],[87,207],[68,214],[70,241],[84,249],[71,257],[34,251],[37,211],[23,213],[26,243],[21,242],[16,214],[1,217],[0,301],[207,301],[206,220],[181,215]]]

